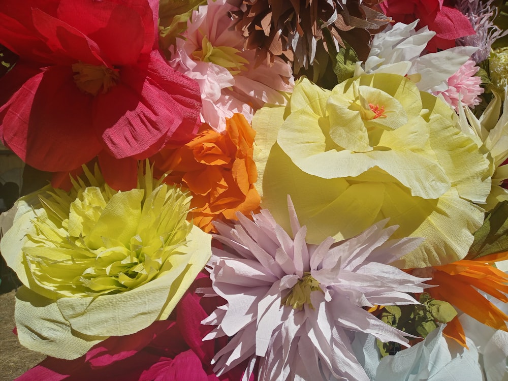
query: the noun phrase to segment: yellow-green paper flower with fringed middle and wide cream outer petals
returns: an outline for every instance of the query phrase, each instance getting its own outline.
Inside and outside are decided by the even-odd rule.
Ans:
[[[149,167],[128,192],[85,173],[69,193],[47,186],[18,200],[0,242],[23,283],[20,342],[63,359],[167,319],[211,255],[210,236],[185,220],[188,195]]]

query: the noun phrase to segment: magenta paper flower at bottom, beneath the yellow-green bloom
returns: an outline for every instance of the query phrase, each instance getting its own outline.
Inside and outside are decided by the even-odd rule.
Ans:
[[[226,344],[227,338],[201,340],[211,330],[200,325],[201,320],[220,301],[201,298],[194,289],[210,284],[208,276],[198,274],[191,289],[177,304],[173,319],[154,322],[132,335],[110,337],[75,360],[46,358],[17,381],[238,381],[244,369],[241,365],[217,377],[210,364],[215,347]]]

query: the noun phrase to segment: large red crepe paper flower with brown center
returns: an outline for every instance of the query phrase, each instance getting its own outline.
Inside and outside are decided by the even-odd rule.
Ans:
[[[0,79],[0,133],[29,165],[69,171],[100,154],[107,177],[112,164],[134,167],[196,134],[199,86],[154,50],[157,1],[7,0],[2,8],[0,44],[20,60]]]

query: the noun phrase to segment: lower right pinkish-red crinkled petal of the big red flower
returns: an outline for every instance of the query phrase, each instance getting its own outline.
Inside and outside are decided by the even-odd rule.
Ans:
[[[94,128],[111,155],[148,156],[147,147],[160,148],[154,144],[164,144],[177,129],[182,130],[178,137],[196,133],[199,86],[169,67],[159,52],[151,53],[145,68],[122,68],[120,78],[120,84],[97,96],[93,111]]]

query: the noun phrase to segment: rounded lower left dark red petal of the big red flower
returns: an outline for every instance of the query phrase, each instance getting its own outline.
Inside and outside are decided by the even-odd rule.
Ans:
[[[74,84],[70,67],[49,67],[26,81],[5,106],[4,141],[39,170],[73,170],[101,150],[90,131],[91,102]]]

